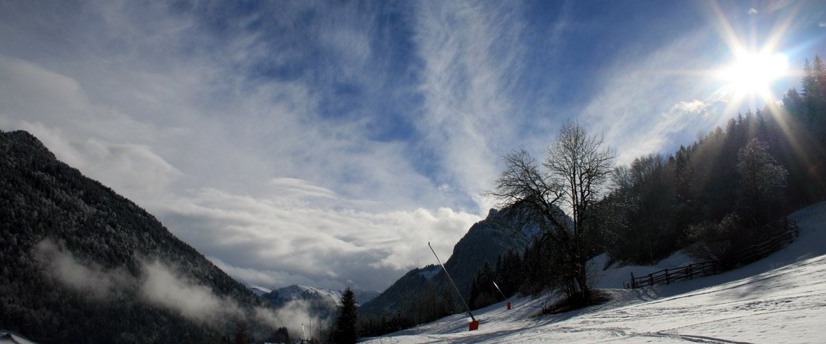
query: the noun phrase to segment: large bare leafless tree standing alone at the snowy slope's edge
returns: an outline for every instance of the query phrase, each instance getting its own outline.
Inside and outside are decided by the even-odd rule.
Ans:
[[[572,303],[591,299],[586,224],[615,158],[603,142],[604,135],[588,135],[582,125],[567,123],[548,147],[544,169],[524,148],[509,153],[496,189],[487,193],[519,224],[542,226],[542,241],[553,244],[548,264],[557,276],[550,287],[562,290]]]

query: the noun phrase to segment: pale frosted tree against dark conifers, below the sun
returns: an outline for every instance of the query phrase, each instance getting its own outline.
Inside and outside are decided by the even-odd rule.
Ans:
[[[768,152],[768,145],[759,139],[748,141],[737,154],[738,201],[743,214],[754,222],[762,222],[771,211],[764,209],[776,197],[776,191],[786,186],[786,168],[777,165]]]

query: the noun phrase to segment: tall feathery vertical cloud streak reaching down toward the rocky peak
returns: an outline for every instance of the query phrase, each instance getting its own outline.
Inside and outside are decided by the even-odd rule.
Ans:
[[[490,205],[478,197],[498,174],[502,146],[515,146],[515,119],[508,94],[520,73],[524,47],[519,8],[472,2],[427,2],[418,8],[415,40],[425,62],[421,92],[425,113],[417,120],[434,147],[444,181],[474,196],[483,213]]]

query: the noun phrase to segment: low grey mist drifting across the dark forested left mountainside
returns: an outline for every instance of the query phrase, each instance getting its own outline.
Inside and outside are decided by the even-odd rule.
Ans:
[[[81,262],[50,239],[40,241],[33,253],[45,274],[82,292],[91,302],[136,299],[212,327],[244,321],[272,331],[284,327],[292,337],[301,336],[302,325],[312,324],[316,328],[306,328],[307,336],[312,335],[307,331],[317,333],[330,325],[329,318],[313,314],[310,305],[301,300],[291,301],[281,309],[244,309],[235,299],[216,295],[211,288],[182,276],[157,259],[138,259],[140,276],[132,276],[121,267],[106,269],[94,262]]]

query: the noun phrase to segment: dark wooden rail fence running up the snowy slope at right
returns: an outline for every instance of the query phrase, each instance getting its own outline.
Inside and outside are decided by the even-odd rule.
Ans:
[[[632,272],[631,280],[624,281],[623,288],[634,289],[647,285],[667,285],[676,280],[691,280],[695,277],[719,274],[720,272],[732,269],[733,267],[755,262],[762,257],[768,256],[772,252],[780,251],[783,246],[794,241],[800,234],[799,229],[797,228],[797,220],[795,219],[784,218],[772,222],[771,224],[767,224],[766,226],[768,227],[777,224],[782,224],[785,229],[783,233],[774,238],[768,239],[763,243],[746,247],[743,250],[734,252],[729,255],[729,257],[725,257],[723,259],[699,262],[673,269],[662,269],[640,277],[634,277],[634,273]]]

